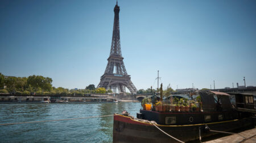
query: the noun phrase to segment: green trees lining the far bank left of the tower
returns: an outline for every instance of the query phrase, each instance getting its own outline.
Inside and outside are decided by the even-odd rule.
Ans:
[[[112,93],[112,90],[95,88],[90,84],[85,89],[67,89],[52,86],[50,77],[32,75],[28,77],[5,76],[0,73],[0,93],[45,95],[45,96],[84,96],[90,93]]]

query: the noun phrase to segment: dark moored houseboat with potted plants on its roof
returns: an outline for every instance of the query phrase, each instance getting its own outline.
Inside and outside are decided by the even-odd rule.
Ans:
[[[255,106],[249,106],[254,105],[252,95],[238,97],[238,94],[230,96],[212,91],[197,95],[201,97],[201,109],[197,111],[191,107],[187,111],[174,111],[174,107],[163,105],[164,111],[155,111],[159,109],[153,106],[151,110],[140,110],[137,118],[127,112],[116,114],[113,142],[187,142],[218,132],[254,128]],[[233,103],[230,102],[232,98]],[[236,106],[249,107],[250,111],[238,111]]]

